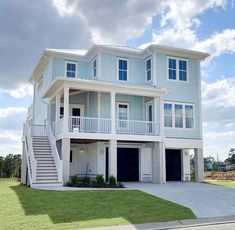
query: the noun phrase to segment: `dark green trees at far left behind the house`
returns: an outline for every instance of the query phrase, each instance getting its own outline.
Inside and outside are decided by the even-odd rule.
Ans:
[[[5,157],[0,156],[0,177],[21,176],[21,155],[8,154]]]

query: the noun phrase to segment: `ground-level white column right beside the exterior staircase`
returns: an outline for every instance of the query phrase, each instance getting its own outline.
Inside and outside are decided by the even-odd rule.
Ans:
[[[61,156],[63,160],[63,184],[69,182],[69,157],[70,157],[70,139],[62,139]]]

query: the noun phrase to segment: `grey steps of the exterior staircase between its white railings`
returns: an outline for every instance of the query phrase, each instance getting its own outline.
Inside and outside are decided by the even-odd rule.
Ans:
[[[47,136],[33,136],[32,146],[34,158],[37,160],[36,184],[56,185],[58,183],[58,174],[50,141]]]

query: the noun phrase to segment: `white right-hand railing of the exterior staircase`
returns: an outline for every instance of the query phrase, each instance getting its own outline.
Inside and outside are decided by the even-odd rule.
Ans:
[[[48,133],[48,138],[49,138],[50,145],[51,145],[51,153],[54,158],[55,166],[56,166],[57,173],[58,173],[58,182],[62,182],[63,181],[62,179],[63,161],[60,159],[60,156],[56,147],[56,140],[52,133],[51,127],[49,125],[47,125],[47,133]]]

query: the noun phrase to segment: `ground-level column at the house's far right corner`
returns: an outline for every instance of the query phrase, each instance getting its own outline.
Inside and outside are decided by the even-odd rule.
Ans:
[[[203,149],[194,149],[194,161],[195,161],[195,180],[196,182],[204,181],[204,160]]]

